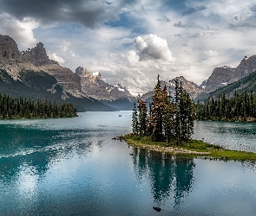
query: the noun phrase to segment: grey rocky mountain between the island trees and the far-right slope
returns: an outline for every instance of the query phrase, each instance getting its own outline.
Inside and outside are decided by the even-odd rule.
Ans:
[[[226,86],[233,82],[235,67],[216,67],[211,76],[207,79],[204,92],[213,92],[217,88]]]

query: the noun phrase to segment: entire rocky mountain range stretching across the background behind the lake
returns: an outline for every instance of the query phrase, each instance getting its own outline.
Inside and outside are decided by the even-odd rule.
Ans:
[[[256,55],[253,55],[241,60],[238,67],[214,68],[200,86],[183,76],[161,80],[161,86],[167,86],[167,92],[174,97],[174,80],[178,79],[195,100],[217,97],[220,92],[232,95],[233,91],[241,89],[255,91],[255,69]],[[246,77],[250,77],[250,82],[246,81]],[[240,81],[242,86],[236,84]],[[78,111],[131,110],[136,99],[125,86],[106,83],[99,72],[90,73],[83,67],[77,67],[73,73],[55,60],[50,60],[42,42],[37,43],[35,48],[20,52],[16,41],[8,35],[0,35],[0,84],[0,92],[11,96],[73,103]],[[150,101],[153,94],[152,90],[141,98]]]

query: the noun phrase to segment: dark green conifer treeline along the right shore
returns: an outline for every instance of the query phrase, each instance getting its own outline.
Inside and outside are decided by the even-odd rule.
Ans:
[[[207,98],[196,104],[198,120],[256,121],[256,93],[235,92],[232,98],[222,94],[219,98]]]

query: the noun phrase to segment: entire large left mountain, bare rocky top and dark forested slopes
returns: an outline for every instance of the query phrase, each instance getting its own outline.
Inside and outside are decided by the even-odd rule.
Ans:
[[[10,36],[0,35],[0,92],[14,97],[73,103],[78,111],[114,111],[82,92],[81,79],[49,60],[43,43],[20,52]]]

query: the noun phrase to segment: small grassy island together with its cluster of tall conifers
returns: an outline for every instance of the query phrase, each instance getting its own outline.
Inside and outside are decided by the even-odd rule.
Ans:
[[[175,81],[174,98],[171,98],[166,86],[161,89],[158,75],[149,109],[147,103],[138,98],[132,114],[133,132],[118,138],[135,147],[175,156],[226,161],[256,160],[256,153],[253,152],[224,149],[218,145],[192,139],[194,120],[198,114],[195,108],[199,106],[200,104],[194,105],[194,101],[178,80]],[[201,107],[197,110],[202,111]]]

